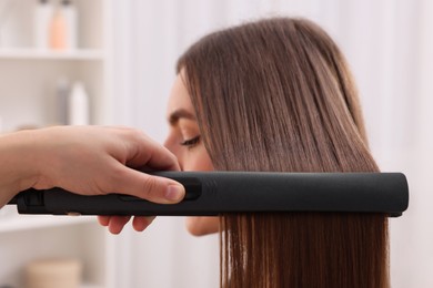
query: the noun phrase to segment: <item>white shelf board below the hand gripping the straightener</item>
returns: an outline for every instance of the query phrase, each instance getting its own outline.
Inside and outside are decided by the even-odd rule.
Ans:
[[[24,232],[39,228],[52,228],[68,225],[95,223],[95,217],[70,217],[51,215],[17,215],[0,218],[0,234],[10,232]]]

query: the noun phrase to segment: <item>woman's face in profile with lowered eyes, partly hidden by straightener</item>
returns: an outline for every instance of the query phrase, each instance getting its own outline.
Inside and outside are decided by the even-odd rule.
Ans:
[[[182,171],[212,171],[213,165],[205,150],[190,94],[180,73],[174,81],[168,105],[169,135],[165,147],[179,161]],[[219,230],[218,217],[188,217],[187,228],[193,235]]]

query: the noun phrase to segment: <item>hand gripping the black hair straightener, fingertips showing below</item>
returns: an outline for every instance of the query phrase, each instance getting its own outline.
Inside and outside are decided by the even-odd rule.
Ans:
[[[17,171],[19,185],[13,193],[57,186],[82,195],[121,193],[161,204],[178,203],[184,196],[179,183],[133,169],[179,169],[168,150],[135,130],[59,126],[11,133],[0,142],[12,147],[6,164]],[[99,219],[118,234],[129,217]],[[143,230],[151,220],[135,217],[133,227]]]

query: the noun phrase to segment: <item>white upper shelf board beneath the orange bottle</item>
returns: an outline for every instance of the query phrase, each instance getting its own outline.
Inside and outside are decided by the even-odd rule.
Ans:
[[[98,49],[50,51],[37,49],[0,49],[0,60],[81,60],[101,61],[104,53]]]

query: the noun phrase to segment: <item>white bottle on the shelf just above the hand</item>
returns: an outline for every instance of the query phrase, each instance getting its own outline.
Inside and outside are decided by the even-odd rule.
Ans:
[[[84,85],[77,81],[68,99],[68,124],[89,125],[89,96]]]

